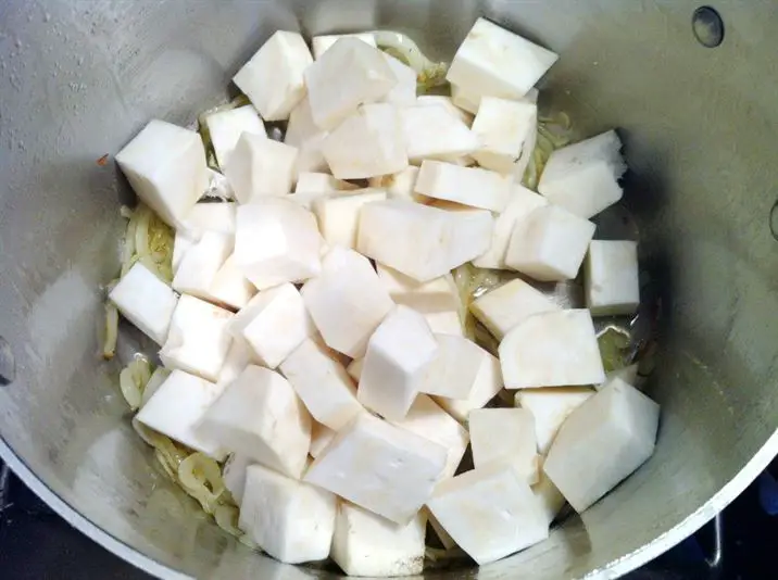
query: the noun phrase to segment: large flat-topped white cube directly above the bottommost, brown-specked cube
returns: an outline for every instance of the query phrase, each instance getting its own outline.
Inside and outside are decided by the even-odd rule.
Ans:
[[[442,445],[360,413],[316,458],[305,481],[404,525],[432,494],[447,457]]]

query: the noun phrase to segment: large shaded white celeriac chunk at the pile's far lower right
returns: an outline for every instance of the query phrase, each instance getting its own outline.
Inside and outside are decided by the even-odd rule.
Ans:
[[[543,469],[584,512],[652,455],[658,419],[656,403],[614,380],[567,417]]]

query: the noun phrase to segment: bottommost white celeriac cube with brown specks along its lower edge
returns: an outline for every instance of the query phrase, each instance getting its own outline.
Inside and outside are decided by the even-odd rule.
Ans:
[[[409,524],[398,525],[356,505],[340,502],[330,556],[349,576],[421,575],[426,529],[424,512],[416,514]]]

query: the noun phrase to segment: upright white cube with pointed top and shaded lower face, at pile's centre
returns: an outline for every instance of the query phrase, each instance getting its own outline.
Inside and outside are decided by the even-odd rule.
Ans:
[[[367,342],[357,400],[387,420],[407,414],[438,343],[424,317],[397,306]]]

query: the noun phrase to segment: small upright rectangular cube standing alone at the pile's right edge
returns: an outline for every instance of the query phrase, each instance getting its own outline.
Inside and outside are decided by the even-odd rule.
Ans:
[[[637,242],[592,240],[585,274],[586,304],[592,316],[635,314],[638,310]]]

